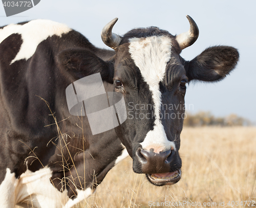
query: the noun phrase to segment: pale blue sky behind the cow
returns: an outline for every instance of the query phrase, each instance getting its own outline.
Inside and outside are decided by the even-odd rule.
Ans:
[[[240,52],[237,68],[225,80],[188,86],[185,100],[187,105],[193,104],[191,112],[210,111],[216,116],[236,113],[256,122],[255,10],[255,0],[41,0],[34,8],[11,17],[5,16],[4,7],[0,5],[0,24],[51,19],[68,24],[94,45],[107,48],[100,32],[115,17],[119,18],[113,29],[117,34],[153,25],[175,35],[189,29],[185,17],[188,14],[197,22],[200,35],[196,43],[182,51],[184,59],[193,59],[212,45],[230,45]]]

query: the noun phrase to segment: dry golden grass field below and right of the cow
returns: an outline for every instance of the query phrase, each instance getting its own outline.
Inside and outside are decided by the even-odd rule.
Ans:
[[[255,127],[184,127],[179,152],[176,185],[151,185],[126,158],[79,207],[256,207]]]

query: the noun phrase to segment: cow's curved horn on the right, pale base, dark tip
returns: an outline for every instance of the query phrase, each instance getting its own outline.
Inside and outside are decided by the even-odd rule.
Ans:
[[[186,15],[186,17],[190,24],[189,31],[176,36],[176,40],[182,50],[195,43],[199,36],[199,29],[197,27],[197,23],[189,15]]]

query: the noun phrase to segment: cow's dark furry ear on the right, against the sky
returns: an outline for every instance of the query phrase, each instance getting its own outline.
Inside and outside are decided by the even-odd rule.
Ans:
[[[204,50],[195,59],[185,62],[187,77],[190,80],[206,82],[220,81],[236,67],[239,53],[230,46],[214,46]]]

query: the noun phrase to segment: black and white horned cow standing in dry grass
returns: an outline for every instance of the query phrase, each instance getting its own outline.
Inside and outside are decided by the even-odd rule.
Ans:
[[[239,59],[237,49],[215,46],[185,61],[182,49],[199,35],[187,18],[190,29],[178,36],[150,27],[123,37],[112,33],[116,18],[101,33],[114,50],[50,20],[0,28],[2,208],[72,207],[128,154],[152,184],[180,180],[186,83],[222,80]],[[93,135],[87,116],[70,115],[65,90],[95,73],[105,91],[122,93],[127,119]]]

